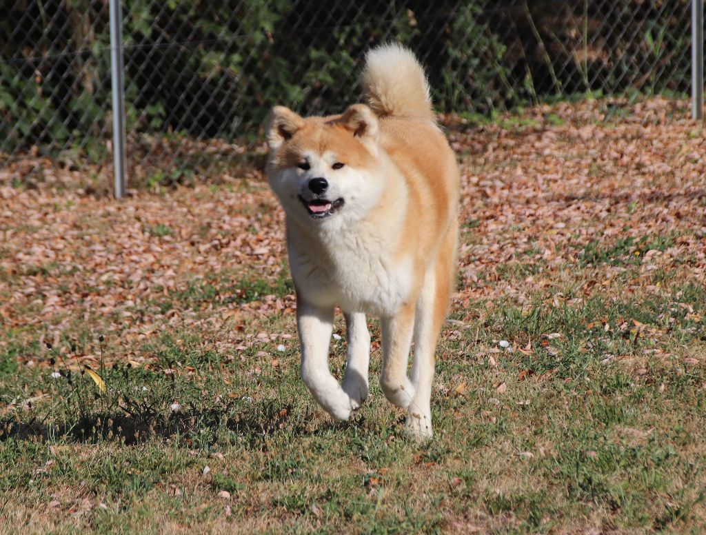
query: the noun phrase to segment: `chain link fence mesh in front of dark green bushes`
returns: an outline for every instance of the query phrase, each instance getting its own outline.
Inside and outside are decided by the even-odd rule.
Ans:
[[[107,0],[5,0],[0,168],[111,168]],[[235,174],[273,104],[338,112],[366,49],[397,40],[441,112],[690,90],[689,0],[130,0],[123,7],[131,186]]]

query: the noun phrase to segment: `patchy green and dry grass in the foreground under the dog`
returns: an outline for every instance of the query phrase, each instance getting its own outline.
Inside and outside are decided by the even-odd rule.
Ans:
[[[292,339],[285,351],[267,339],[238,356],[165,332],[143,347],[155,356],[148,368],[101,371],[105,394],[76,371],[73,385],[18,376],[11,349],[4,402],[40,391],[50,402],[3,416],[0,460],[11,469],[0,476],[0,529],[704,527],[706,368],[677,356],[702,351],[704,313],[705,291],[690,284],[560,307],[496,303],[447,330],[437,435],[421,446],[401,438],[402,414],[374,381],[352,422],[329,421],[299,380]],[[248,330],[291,332],[293,323],[273,316]],[[512,351],[496,349],[498,339]],[[339,371],[343,342],[332,344]]]

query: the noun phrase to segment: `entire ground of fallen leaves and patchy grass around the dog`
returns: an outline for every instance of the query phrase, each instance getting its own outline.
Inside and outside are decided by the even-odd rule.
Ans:
[[[460,276],[423,447],[376,387],[346,426],[306,394],[259,172],[119,202],[92,169],[0,172],[0,529],[706,529],[704,128],[661,99],[448,128]]]

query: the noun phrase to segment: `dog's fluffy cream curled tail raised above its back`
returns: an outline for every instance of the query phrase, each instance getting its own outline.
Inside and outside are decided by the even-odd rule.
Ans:
[[[396,43],[373,48],[361,78],[368,105],[378,116],[434,120],[424,68],[409,49]]]

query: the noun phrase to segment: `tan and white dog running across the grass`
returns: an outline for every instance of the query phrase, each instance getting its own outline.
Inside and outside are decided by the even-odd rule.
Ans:
[[[382,390],[408,409],[406,433],[429,438],[434,352],[454,284],[458,167],[412,52],[371,50],[362,83],[367,106],[306,118],[275,107],[268,125],[268,177],[285,209],[297,289],[301,377],[325,411],[347,420],[368,395],[365,314],[378,315]],[[342,385],[328,368],[335,305],[347,325]]]

